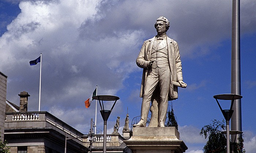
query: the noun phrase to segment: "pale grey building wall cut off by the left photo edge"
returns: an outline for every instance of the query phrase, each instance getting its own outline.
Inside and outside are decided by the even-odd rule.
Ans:
[[[7,89],[7,76],[0,72],[0,140],[4,140],[4,121],[5,121],[5,100]]]

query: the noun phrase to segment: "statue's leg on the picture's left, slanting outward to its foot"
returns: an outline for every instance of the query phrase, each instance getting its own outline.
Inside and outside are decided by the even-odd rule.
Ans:
[[[158,68],[148,70],[148,76],[144,86],[144,95],[141,107],[141,120],[140,123],[146,126],[148,111],[150,108],[150,100],[158,83]]]

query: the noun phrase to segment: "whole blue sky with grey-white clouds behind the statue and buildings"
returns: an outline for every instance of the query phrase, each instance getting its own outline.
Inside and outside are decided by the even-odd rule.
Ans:
[[[108,120],[140,115],[142,69],[135,64],[143,41],[154,37],[155,20],[170,21],[167,35],[178,42],[185,89],[173,101],[181,139],[188,153],[202,153],[200,129],[223,116],[212,96],[231,91],[231,0],[1,0],[0,71],[8,76],[7,100],[19,105],[27,91],[29,111],[38,111],[42,53],[41,111],[48,111],[82,133],[95,118],[99,95],[120,97]],[[241,1],[241,95],[245,150],[256,143],[256,1]],[[171,102],[170,102],[171,103]],[[98,110],[99,111],[99,108]],[[131,126],[131,125],[130,125]],[[100,113],[97,129],[103,130]],[[122,128],[120,128],[121,131]]]

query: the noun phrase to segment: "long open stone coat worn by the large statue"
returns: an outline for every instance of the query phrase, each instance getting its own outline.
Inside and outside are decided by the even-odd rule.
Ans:
[[[147,80],[147,74],[148,74],[147,66],[150,61],[152,45],[155,39],[156,37],[144,41],[142,48],[140,49],[139,56],[136,60],[136,64],[140,68],[143,68],[140,97],[143,97],[143,94],[144,94],[144,84]],[[178,80],[183,80],[182,66],[181,66],[180,51],[179,51],[178,43],[169,37],[167,37],[166,40],[167,40],[167,47],[168,47],[167,50],[168,50],[168,60],[169,60],[170,77],[171,77],[170,89],[169,89],[169,100],[174,100],[178,98],[178,87],[173,86],[172,81],[177,82]]]

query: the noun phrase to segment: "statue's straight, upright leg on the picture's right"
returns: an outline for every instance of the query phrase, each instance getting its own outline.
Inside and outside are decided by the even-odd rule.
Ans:
[[[160,104],[158,114],[158,126],[164,127],[168,108],[168,95],[170,89],[170,69],[169,67],[158,69],[158,79],[160,87]]]

